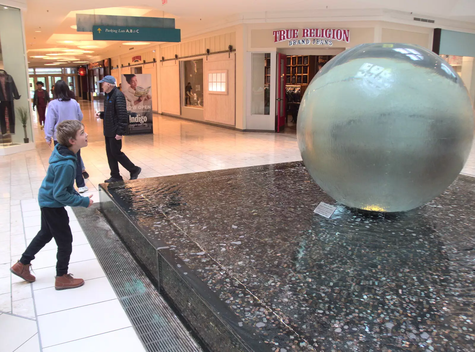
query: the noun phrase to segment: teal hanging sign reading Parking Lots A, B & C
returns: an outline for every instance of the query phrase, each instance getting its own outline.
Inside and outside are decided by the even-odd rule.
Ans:
[[[93,26],[94,40],[127,40],[135,42],[180,42],[180,29],[150,27]]]

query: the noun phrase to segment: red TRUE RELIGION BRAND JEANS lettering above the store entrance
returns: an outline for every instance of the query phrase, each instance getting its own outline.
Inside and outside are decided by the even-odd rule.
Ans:
[[[274,43],[288,40],[293,45],[333,45],[333,41],[350,42],[350,29],[335,28],[304,28],[279,29],[272,32]]]

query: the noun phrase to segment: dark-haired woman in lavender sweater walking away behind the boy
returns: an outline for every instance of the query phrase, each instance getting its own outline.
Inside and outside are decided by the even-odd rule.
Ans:
[[[59,80],[55,83],[56,99],[49,103],[46,114],[45,123],[45,139],[51,147],[51,141],[54,145],[57,144],[57,126],[61,121],[65,120],[83,120],[83,112],[76,100],[69,97],[69,87],[66,82]],[[76,186],[79,193],[84,193],[88,190],[84,182],[84,177],[81,167],[81,151],[77,151],[76,155]]]

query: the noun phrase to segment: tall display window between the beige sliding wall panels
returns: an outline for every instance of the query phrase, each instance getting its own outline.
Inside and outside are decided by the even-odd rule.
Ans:
[[[203,59],[182,61],[182,72],[183,106],[203,108]]]

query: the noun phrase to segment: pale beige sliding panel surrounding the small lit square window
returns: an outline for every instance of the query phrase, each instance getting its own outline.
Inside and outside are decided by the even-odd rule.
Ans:
[[[204,62],[204,119],[211,122],[224,123],[227,125],[235,124],[236,111],[236,91],[235,91],[235,54],[230,57],[228,54],[212,55],[208,61]],[[227,94],[215,94],[208,91],[208,73],[209,71],[226,70],[227,71]]]

